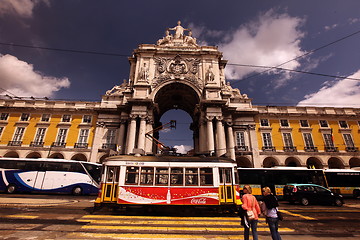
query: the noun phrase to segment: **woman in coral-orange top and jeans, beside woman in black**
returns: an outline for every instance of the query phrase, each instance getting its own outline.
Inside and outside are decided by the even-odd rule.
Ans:
[[[261,213],[260,206],[256,198],[252,195],[252,190],[249,185],[245,185],[243,187],[243,192],[243,204],[241,205],[241,207],[246,212],[244,217],[244,239],[249,240],[251,228],[253,240],[258,240],[257,224],[259,221],[259,215]],[[252,214],[250,211],[252,212]]]

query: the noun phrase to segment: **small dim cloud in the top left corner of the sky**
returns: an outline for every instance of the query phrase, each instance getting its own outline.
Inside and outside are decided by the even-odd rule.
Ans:
[[[35,5],[39,3],[50,5],[49,0],[1,0],[0,15],[13,13],[21,17],[32,17]]]

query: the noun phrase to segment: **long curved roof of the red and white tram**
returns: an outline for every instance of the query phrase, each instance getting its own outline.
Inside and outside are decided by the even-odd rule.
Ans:
[[[171,155],[156,155],[156,156],[117,155],[117,156],[107,157],[105,161],[236,163],[234,160],[224,157],[171,156]]]

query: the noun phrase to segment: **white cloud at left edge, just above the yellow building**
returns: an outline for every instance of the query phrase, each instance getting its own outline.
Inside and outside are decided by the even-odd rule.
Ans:
[[[56,91],[69,86],[70,81],[66,77],[45,76],[27,62],[0,54],[0,87],[16,96],[51,97]],[[2,89],[1,94],[9,94],[1,92]]]

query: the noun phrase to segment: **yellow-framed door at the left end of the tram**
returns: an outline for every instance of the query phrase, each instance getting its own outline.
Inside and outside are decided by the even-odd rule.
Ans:
[[[119,166],[107,166],[106,178],[103,189],[103,201],[104,202],[116,202],[118,195],[119,185]]]

